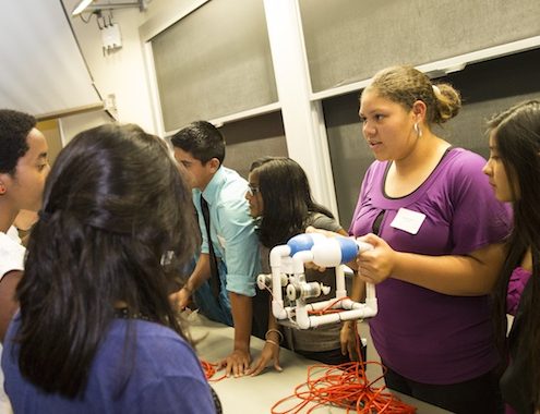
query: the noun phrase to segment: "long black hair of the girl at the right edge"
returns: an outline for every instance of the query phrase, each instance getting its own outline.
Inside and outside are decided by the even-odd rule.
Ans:
[[[528,100],[495,115],[488,123],[497,155],[513,193],[514,227],[507,240],[507,256],[494,290],[497,348],[506,352],[506,295],[512,272],[526,252],[532,254],[532,276],[521,295],[520,352],[528,353],[532,381],[530,394],[540,406],[540,101]]]

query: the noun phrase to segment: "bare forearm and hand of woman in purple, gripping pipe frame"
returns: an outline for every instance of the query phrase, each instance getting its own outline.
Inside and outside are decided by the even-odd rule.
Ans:
[[[468,255],[428,256],[396,252],[374,234],[362,240],[374,247],[357,257],[362,281],[380,283],[392,277],[448,295],[489,294],[505,257],[502,243],[489,244]]]

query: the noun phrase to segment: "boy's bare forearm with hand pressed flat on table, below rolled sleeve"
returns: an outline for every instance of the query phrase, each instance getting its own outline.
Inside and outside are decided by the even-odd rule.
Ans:
[[[235,325],[235,342],[232,352],[219,363],[225,367],[225,375],[241,377],[250,368],[251,319],[253,316],[252,299],[229,292],[232,322]]]

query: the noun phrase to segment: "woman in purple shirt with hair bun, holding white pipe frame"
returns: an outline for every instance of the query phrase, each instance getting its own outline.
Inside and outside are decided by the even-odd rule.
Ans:
[[[377,284],[370,321],[386,385],[456,413],[501,407],[488,293],[509,232],[477,154],[453,148],[433,124],[455,117],[459,94],[420,71],[379,72],[361,97],[369,168],[350,227],[375,247],[357,258]]]

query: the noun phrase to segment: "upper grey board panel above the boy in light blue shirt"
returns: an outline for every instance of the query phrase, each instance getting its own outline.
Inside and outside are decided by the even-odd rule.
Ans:
[[[166,131],[277,101],[262,0],[213,0],[152,39]]]

